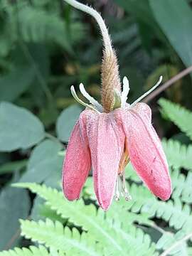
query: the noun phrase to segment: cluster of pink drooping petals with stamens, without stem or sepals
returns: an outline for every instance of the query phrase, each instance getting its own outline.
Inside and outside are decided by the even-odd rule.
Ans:
[[[63,164],[63,191],[68,200],[80,197],[92,167],[95,194],[107,210],[114,197],[117,176],[131,161],[149,190],[162,200],[171,195],[166,156],[151,124],[151,109],[145,103],[120,107],[110,113],[86,109],[70,136]],[[123,182],[125,198],[129,193]],[[118,190],[116,193],[118,198]]]

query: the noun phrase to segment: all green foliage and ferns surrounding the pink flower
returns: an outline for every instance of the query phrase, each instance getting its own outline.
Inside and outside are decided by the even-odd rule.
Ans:
[[[192,65],[191,1],[86,3],[110,28],[129,102],[159,75],[165,82]],[[65,146],[82,111],[70,85],[83,82],[100,99],[95,21],[60,0],[1,0],[0,28],[0,256],[192,255],[191,76],[149,102],[164,138],[171,199],[152,196],[129,165],[133,200],[104,213],[91,177],[78,202],[60,190]]]

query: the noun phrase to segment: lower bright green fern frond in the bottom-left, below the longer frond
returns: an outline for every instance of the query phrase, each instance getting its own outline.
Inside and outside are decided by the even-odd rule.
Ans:
[[[20,222],[21,235],[33,242],[43,243],[46,247],[53,247],[55,250],[65,253],[71,252],[73,249],[73,255],[100,255],[95,250],[95,241],[92,241],[86,233],[80,235],[75,228],[73,230],[68,227],[64,229],[60,222],[54,223],[50,219],[46,219],[46,222],[42,220],[38,222],[20,220]]]

